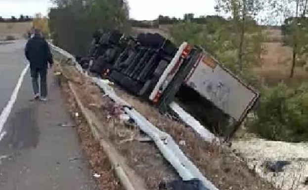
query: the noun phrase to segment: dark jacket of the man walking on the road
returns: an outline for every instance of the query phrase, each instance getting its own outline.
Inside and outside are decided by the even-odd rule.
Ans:
[[[30,62],[31,69],[47,69],[48,62],[50,65],[53,64],[49,45],[40,35],[35,35],[28,40],[25,55]]]

